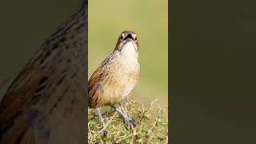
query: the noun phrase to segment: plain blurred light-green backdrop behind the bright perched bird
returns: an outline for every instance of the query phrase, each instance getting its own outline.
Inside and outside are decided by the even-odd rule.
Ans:
[[[123,30],[138,34],[141,78],[132,94],[142,102],[168,99],[167,0],[89,1],[89,76],[114,50]]]

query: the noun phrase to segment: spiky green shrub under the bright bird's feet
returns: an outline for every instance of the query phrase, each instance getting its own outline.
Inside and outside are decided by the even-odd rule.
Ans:
[[[129,128],[122,117],[114,110],[107,110],[102,117],[107,134],[102,134],[102,126],[94,109],[88,109],[88,142],[89,143],[167,143],[168,120],[165,117],[167,106],[154,107],[154,103],[143,106],[136,99],[130,99],[126,110],[137,126]]]

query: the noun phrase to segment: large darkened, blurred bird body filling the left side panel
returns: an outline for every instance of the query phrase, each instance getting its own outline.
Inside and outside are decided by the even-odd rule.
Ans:
[[[88,2],[50,35],[0,102],[1,144],[85,143]]]

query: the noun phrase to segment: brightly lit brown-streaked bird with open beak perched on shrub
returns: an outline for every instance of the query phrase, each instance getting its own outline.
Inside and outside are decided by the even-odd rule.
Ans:
[[[118,37],[114,51],[98,66],[88,82],[89,106],[96,108],[103,122],[100,107],[111,106],[122,115],[125,122],[135,125],[132,118],[114,105],[130,96],[138,83],[138,38],[133,31],[123,31]]]

